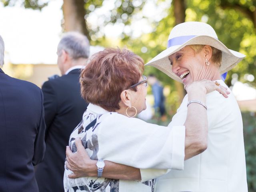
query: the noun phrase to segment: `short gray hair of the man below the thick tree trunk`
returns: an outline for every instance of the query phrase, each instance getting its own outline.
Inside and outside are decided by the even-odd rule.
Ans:
[[[61,50],[65,50],[73,59],[88,58],[90,42],[86,36],[78,32],[68,32],[58,44],[57,52]]]

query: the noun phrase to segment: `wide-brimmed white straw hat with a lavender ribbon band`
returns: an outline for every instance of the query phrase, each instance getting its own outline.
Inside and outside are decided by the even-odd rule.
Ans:
[[[154,66],[171,78],[182,81],[172,72],[168,56],[179,51],[187,45],[210,45],[222,51],[220,74],[227,72],[238,64],[245,55],[228,49],[218,40],[214,29],[203,22],[184,22],[176,25],[170,32],[167,49],[150,60],[146,66]]]

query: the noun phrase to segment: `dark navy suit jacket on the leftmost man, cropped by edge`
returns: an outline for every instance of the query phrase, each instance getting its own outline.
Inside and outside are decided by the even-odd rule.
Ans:
[[[0,69],[0,192],[38,192],[33,165],[45,151],[42,91]]]

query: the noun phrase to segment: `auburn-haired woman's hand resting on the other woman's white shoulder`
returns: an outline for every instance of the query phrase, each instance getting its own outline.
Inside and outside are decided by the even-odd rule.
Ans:
[[[192,82],[191,84],[188,84],[186,86],[186,91],[189,92],[200,92],[203,91],[205,94],[208,94],[213,91],[218,91],[220,94],[222,94],[225,98],[228,98],[228,94],[230,94],[230,91],[228,91],[228,88],[221,86],[220,84],[217,85],[218,82],[213,82],[210,80],[199,80]]]

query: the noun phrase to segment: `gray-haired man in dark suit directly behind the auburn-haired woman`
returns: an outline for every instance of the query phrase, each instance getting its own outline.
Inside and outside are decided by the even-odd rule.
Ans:
[[[79,76],[89,56],[86,36],[68,32],[57,48],[61,77],[42,86],[46,122],[46,153],[36,169],[40,192],[63,192],[66,146],[71,132],[79,124],[87,108],[81,98]]]

